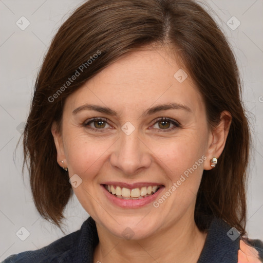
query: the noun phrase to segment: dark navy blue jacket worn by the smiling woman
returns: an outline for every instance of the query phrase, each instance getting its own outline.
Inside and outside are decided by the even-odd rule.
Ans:
[[[237,263],[240,236],[221,219],[215,218],[209,227],[203,250],[197,263]],[[81,229],[35,251],[11,255],[2,263],[93,263],[93,249],[99,242],[95,221],[89,217]],[[263,243],[251,240],[263,255]],[[263,261],[261,261],[263,262]]]

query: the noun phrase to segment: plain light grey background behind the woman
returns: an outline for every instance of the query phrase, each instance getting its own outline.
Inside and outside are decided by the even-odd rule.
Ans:
[[[26,173],[25,184],[21,175],[22,147],[18,147],[16,158],[13,154],[29,112],[33,84],[43,55],[59,26],[81,3],[83,1],[79,0],[0,0],[0,260],[11,254],[42,248],[63,236],[34,208],[28,175]],[[247,231],[249,237],[263,240],[263,1],[210,0],[206,3],[228,36],[243,79],[243,99],[254,138]],[[16,25],[21,16],[30,22],[25,30]],[[232,16],[241,23],[236,30],[227,25]],[[88,217],[76,196],[68,204],[65,215],[67,233],[78,230]],[[21,227],[30,233],[25,241],[16,236]]]

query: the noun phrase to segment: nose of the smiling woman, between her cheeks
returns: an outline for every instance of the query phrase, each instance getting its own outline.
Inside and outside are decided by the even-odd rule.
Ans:
[[[138,129],[130,135],[120,132],[110,156],[112,166],[119,168],[125,175],[135,175],[151,164],[151,150],[143,139],[139,138]]]

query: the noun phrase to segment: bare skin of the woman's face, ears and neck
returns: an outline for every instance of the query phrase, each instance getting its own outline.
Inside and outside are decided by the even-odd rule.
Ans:
[[[200,256],[206,233],[194,221],[196,194],[203,170],[212,169],[210,159],[223,151],[231,115],[223,111],[219,125],[211,130],[203,99],[189,74],[182,83],[175,79],[180,68],[168,49],[125,54],[66,99],[61,133],[56,123],[52,125],[58,163],[68,167],[69,177],[77,174],[82,179],[73,190],[96,221],[100,241],[93,262],[189,263]],[[149,107],[171,102],[191,111],[169,109],[142,116]],[[87,103],[107,106],[118,116],[93,110],[72,113]],[[108,123],[102,128],[98,122],[85,126],[93,117],[106,118]],[[172,122],[156,121],[160,117],[180,126],[172,130]],[[135,127],[130,135],[121,129],[127,121]],[[119,208],[100,186],[105,181],[158,182],[165,193],[202,156],[206,160],[158,208],[153,203]],[[127,227],[134,233],[130,239],[122,235]]]

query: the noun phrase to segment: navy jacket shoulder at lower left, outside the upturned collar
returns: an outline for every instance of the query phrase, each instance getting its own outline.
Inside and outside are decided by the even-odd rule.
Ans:
[[[61,258],[60,262],[63,262],[63,258],[70,256],[72,246],[77,241],[79,235],[80,230],[55,240],[44,248],[10,255],[2,263],[57,262],[58,258]]]

